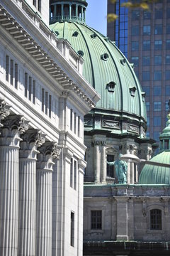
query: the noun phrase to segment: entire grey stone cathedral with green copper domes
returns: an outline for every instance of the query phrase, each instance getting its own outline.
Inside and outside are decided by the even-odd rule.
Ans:
[[[86,6],[50,1],[50,28],[84,58],[84,78],[101,95],[84,118],[84,255],[169,255],[169,122],[161,153],[150,160],[156,146],[146,136],[145,92],[134,65],[86,25]],[[119,155],[128,166],[123,183],[109,164]]]

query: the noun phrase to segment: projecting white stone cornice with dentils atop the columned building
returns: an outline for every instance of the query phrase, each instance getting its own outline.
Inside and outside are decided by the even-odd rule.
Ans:
[[[19,2],[20,4],[18,4],[18,6],[15,3],[15,1],[11,1],[11,4],[15,4],[15,7],[18,7],[18,11],[21,11],[21,8],[24,6],[24,2],[23,1],[19,1]],[[45,25],[43,27],[43,30],[41,31],[42,33],[45,33],[45,35],[47,36],[45,40],[48,41],[50,46],[50,51],[49,50],[46,51],[47,49],[44,50],[42,46],[40,46],[40,44],[37,43],[32,36],[30,36],[30,34],[23,28],[23,26],[21,26],[21,24],[18,23],[13,18],[13,16],[11,16],[11,14],[9,14],[8,11],[6,11],[6,9],[4,9],[3,6],[1,6],[1,4],[4,4],[4,1],[3,3],[1,3],[1,0],[0,0],[1,26],[11,36],[13,36],[13,38],[31,55],[31,57],[34,58],[42,66],[42,68],[44,68],[47,71],[47,73],[50,74],[50,76],[52,76],[52,78],[55,78],[55,80],[62,87],[63,91],[68,90],[69,88],[70,91],[74,92],[75,95],[77,95],[79,98],[81,98],[81,100],[83,100],[84,104],[89,108],[89,110],[90,108],[95,107],[96,102],[99,100],[99,96],[96,94],[94,88],[90,87],[90,85],[87,84],[86,80],[84,80],[84,78],[80,76],[79,72],[73,69],[74,73],[76,72],[77,75],[79,76],[79,79],[81,80],[81,85],[84,86],[85,84],[87,84],[86,90],[85,90],[85,87],[80,88],[79,85],[77,85],[74,82],[74,80],[70,80],[68,75],[64,72],[63,68],[61,68],[60,65],[56,62],[55,58],[52,58],[55,55],[60,55],[60,59],[62,63],[68,66],[68,64],[66,64],[68,63],[68,60],[64,58],[64,56],[60,53],[60,50],[57,49],[57,38],[55,38],[52,31],[50,31],[50,29],[47,28]],[[21,8],[19,8],[19,5]],[[32,26],[35,26],[35,24],[32,24]],[[35,26],[35,28],[37,29],[37,26]],[[45,28],[46,28],[46,31],[44,31]],[[40,30],[40,25],[38,29]],[[51,38],[51,41],[50,41],[50,38]],[[61,42],[61,43],[62,43],[62,47],[67,47],[68,48],[67,50],[69,50],[70,46],[67,42]],[[73,53],[71,55],[73,56]],[[72,68],[69,68],[69,70],[72,70]]]

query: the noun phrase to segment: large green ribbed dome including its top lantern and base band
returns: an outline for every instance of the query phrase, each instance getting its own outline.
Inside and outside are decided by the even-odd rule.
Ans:
[[[117,133],[145,134],[145,92],[142,92],[133,65],[114,42],[86,25],[86,1],[51,0],[50,4],[50,29],[57,34],[57,38],[67,39],[84,58],[84,78],[101,95],[95,110],[91,111],[93,117],[95,114],[98,117],[108,116],[112,122],[106,129],[115,128]],[[86,126],[85,118],[85,129],[105,129],[101,117],[99,119],[101,124],[98,122]],[[121,120],[118,124],[120,129],[113,123],[114,120]],[[136,125],[128,129],[128,124],[123,124],[123,120]]]

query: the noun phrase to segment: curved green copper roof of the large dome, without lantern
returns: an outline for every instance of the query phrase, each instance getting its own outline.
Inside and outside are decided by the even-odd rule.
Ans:
[[[72,44],[84,58],[83,75],[101,95],[96,107],[128,112],[147,119],[145,94],[142,93],[132,65],[108,38],[78,22],[57,22],[50,25],[58,38]],[[76,32],[76,33],[75,33]],[[113,82],[113,91],[108,84]]]

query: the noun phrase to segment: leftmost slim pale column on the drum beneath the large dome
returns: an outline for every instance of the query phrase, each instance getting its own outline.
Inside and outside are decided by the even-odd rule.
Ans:
[[[96,183],[100,183],[101,179],[99,145],[100,142],[94,140],[94,181]]]

